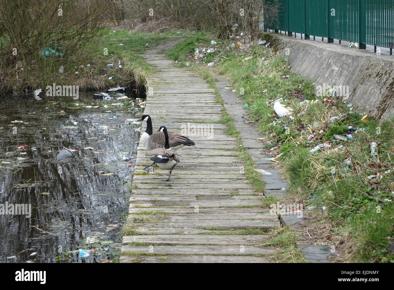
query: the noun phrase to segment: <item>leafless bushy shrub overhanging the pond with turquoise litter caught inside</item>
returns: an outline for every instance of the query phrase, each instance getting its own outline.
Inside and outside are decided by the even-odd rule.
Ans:
[[[0,90],[53,82],[60,65],[84,63],[110,1],[8,0],[0,4]]]

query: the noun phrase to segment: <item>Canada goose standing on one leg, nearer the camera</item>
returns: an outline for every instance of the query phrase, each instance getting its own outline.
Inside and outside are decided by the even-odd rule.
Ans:
[[[172,170],[177,166],[179,162],[178,154],[174,150],[171,150],[169,146],[169,138],[167,128],[165,126],[161,126],[159,129],[160,132],[164,134],[165,142],[164,148],[156,148],[153,150],[149,150],[145,153],[145,156],[154,155],[151,160],[153,163],[157,163],[160,168],[167,169],[170,171],[168,178],[163,179],[162,181],[169,181]]]

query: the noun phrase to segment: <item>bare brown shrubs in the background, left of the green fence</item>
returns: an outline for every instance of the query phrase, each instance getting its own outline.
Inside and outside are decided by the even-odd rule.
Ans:
[[[233,33],[234,24],[238,24],[236,32],[255,39],[263,11],[278,5],[264,0],[124,0],[124,4],[126,15],[141,22],[139,31],[215,30],[217,37],[225,39]],[[269,12],[265,17],[275,15]]]

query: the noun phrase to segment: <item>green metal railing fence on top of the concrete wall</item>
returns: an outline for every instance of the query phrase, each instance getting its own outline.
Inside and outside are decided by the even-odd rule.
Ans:
[[[309,36],[394,47],[394,0],[266,0],[278,7],[264,28]]]

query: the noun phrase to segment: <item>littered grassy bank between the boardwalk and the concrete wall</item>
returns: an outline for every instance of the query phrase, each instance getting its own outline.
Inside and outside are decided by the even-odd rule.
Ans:
[[[361,120],[364,112],[351,109],[340,99],[328,96],[328,92],[315,95],[310,80],[292,73],[288,60],[265,47],[241,50],[231,48],[230,41],[214,39],[217,44],[211,45],[211,40],[190,37],[167,55],[180,65],[189,62],[191,69],[202,72],[210,83],[215,74],[230,78],[238,96],[249,105],[250,120],[265,136],[262,146],[273,156],[282,153],[278,160],[290,181],[290,195],[302,200],[304,208],[313,208],[316,227],[328,227],[317,241],[340,248],[342,260],[394,262],[394,255],[387,249],[394,239],[393,122],[369,117]],[[196,60],[195,48],[216,51],[204,55],[206,59]],[[209,62],[215,62],[217,67],[207,67]],[[271,104],[280,97],[285,107],[293,109],[293,118],[273,117]],[[310,102],[301,104],[304,100]],[[222,120],[229,123],[230,116],[224,114]],[[355,130],[349,131],[349,126]],[[231,122],[227,133],[237,137]],[[346,141],[333,137],[349,133],[352,138]],[[275,135],[271,138],[271,134]],[[307,140],[310,135],[311,142]],[[377,156],[370,154],[372,140],[378,144]],[[324,142],[331,146],[310,153]],[[253,168],[253,162],[249,165],[249,169]]]

